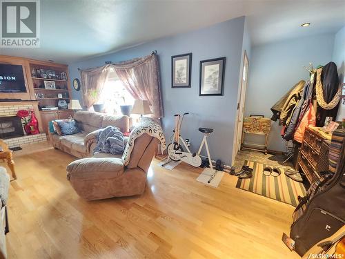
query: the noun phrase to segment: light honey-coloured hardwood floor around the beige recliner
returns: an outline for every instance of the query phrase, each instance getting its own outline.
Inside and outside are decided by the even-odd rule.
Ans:
[[[235,176],[213,189],[201,169],[153,160],[144,195],[86,202],[66,180],[75,157],[16,153],[8,258],[299,258],[281,240],[294,208],[236,189]]]

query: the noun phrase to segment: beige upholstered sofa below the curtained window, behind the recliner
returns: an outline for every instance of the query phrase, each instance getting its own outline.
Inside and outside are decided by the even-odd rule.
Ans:
[[[111,116],[103,113],[90,113],[88,111],[77,111],[74,117],[81,133],[74,135],[60,136],[57,133],[50,133],[50,141],[55,148],[75,157],[121,157],[105,153],[92,154],[96,145],[96,135],[99,129],[106,126],[116,126],[122,133],[128,132],[130,117]],[[127,137],[125,137],[126,144]]]

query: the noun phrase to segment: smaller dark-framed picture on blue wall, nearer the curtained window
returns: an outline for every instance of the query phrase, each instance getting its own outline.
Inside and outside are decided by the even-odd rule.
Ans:
[[[171,87],[190,87],[192,53],[171,57]]]

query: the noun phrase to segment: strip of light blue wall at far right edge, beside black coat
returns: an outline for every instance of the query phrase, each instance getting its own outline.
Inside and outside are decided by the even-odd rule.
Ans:
[[[345,83],[345,27],[335,35],[333,61],[337,64],[340,83]],[[345,118],[345,104],[340,104],[337,121],[342,121],[343,118]]]

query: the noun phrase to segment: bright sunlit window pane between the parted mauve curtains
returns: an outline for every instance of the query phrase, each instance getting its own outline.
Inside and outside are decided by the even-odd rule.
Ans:
[[[99,103],[104,104],[106,113],[121,115],[120,105],[133,105],[134,101],[121,81],[110,73],[99,99]]]

